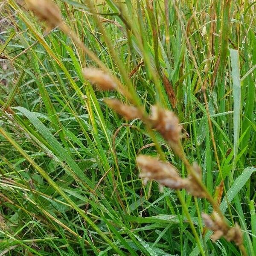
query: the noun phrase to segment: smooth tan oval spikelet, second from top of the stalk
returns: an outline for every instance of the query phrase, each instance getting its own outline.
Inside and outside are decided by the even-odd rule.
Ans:
[[[92,84],[95,84],[100,90],[114,90],[117,88],[117,84],[114,79],[96,68],[84,68],[84,78],[89,80]]]

